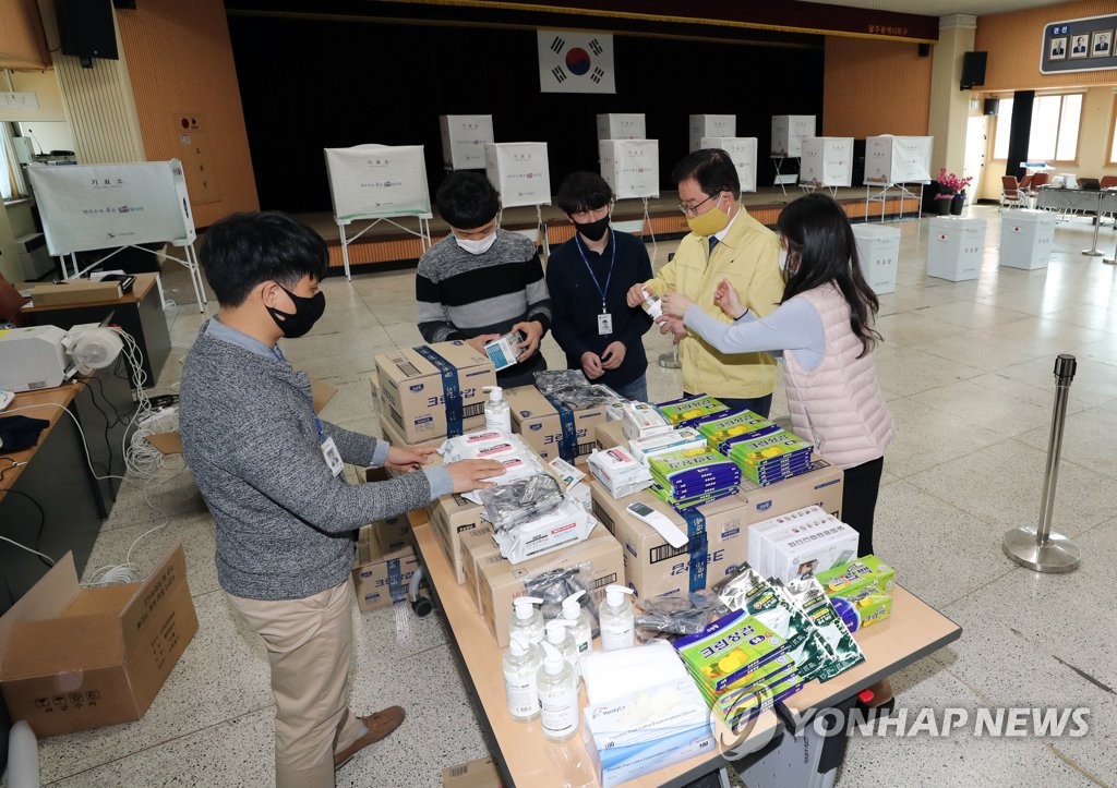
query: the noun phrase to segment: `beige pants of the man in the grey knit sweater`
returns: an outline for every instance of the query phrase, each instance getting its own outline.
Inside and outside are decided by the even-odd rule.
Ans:
[[[349,710],[353,652],[349,582],[305,599],[226,596],[268,647],[276,699],[277,788],[332,788],[334,753],[365,732]]]

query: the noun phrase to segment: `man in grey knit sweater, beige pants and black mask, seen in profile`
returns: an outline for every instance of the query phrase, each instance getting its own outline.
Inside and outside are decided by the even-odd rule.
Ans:
[[[363,718],[349,710],[354,529],[487,487],[504,468],[423,468],[432,450],[318,419],[309,379],[278,345],[325,308],[328,254],[313,230],[281,213],[235,214],[206,233],[201,260],[220,309],[183,366],[183,455],[217,526],[221,588],[267,644],[276,785],[328,787],[336,768],[403,720],[399,707]],[[343,462],[417,472],[350,484]]]

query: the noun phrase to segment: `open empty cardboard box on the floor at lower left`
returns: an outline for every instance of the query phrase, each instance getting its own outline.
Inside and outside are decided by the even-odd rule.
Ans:
[[[104,588],[80,588],[67,552],[0,618],[8,711],[39,737],[139,720],[197,631],[181,544]]]

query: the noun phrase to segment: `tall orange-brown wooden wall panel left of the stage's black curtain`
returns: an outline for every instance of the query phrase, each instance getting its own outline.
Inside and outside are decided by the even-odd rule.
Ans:
[[[221,0],[117,10],[150,161],[181,158],[199,227],[259,208]],[[183,123],[185,125],[183,125]]]

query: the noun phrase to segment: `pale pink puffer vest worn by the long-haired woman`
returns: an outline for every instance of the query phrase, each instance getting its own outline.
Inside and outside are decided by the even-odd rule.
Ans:
[[[792,430],[841,468],[884,457],[896,431],[877,384],[872,352],[858,358],[861,340],[850,328],[849,304],[834,285],[795,297],[805,298],[822,318],[825,350],[810,372],[794,352],[783,354]]]

